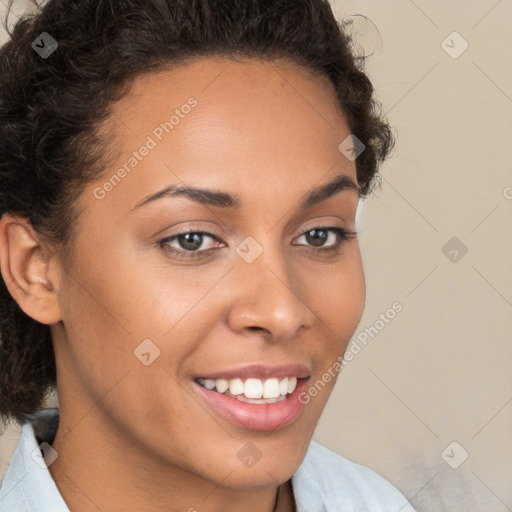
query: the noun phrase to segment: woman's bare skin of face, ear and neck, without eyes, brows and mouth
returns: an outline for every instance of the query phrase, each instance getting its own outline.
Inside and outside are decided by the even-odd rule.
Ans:
[[[94,189],[191,96],[192,112],[97,199]],[[271,432],[217,416],[192,380],[249,363],[304,363],[313,383],[360,321],[357,238],[322,255],[303,234],[354,231],[357,191],[297,209],[337,174],[356,181],[355,162],[338,150],[350,130],[332,85],[285,60],[201,58],[137,78],[103,129],[114,130],[117,151],[77,201],[66,266],[26,221],[0,222],[2,274],[54,339],[61,419],[52,477],[74,512],[271,512],[278,484],[278,510],[295,510],[289,480],[335,380]],[[167,197],[132,210],[184,183],[237,195],[242,207]],[[205,236],[201,250],[211,250],[190,260],[158,245],[181,228],[220,242]],[[263,248],[251,264],[235,251],[247,236]],[[160,350],[149,366],[134,356],[146,338]],[[261,452],[251,468],[237,457],[249,441]]]

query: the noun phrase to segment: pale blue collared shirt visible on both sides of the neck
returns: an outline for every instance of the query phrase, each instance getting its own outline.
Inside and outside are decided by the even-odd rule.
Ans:
[[[52,462],[58,409],[44,414],[50,423],[22,425],[0,486],[1,512],[70,512],[46,465]],[[292,488],[298,512],[415,512],[387,480],[315,441],[292,477]]]

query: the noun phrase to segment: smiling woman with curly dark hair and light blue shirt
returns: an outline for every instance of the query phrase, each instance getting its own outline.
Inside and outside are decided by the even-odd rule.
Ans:
[[[413,510],[311,440],[393,142],[349,44],[324,0],[49,0],[17,23],[2,510]]]

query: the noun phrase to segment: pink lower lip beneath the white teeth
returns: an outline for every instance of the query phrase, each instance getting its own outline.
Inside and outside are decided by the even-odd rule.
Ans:
[[[299,395],[307,381],[298,379],[293,393],[273,404],[249,404],[221,395],[195,381],[194,386],[218,414],[232,423],[250,430],[276,430],[290,425],[301,413],[304,404],[300,402]]]

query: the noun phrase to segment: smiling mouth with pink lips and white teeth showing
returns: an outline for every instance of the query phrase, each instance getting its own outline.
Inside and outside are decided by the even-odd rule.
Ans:
[[[197,377],[194,388],[223,419],[245,429],[275,430],[300,415],[299,396],[309,378],[304,365],[253,365]]]

